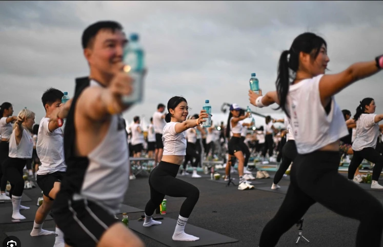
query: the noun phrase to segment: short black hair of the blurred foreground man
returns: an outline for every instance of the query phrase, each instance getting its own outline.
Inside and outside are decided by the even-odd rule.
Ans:
[[[90,25],[84,30],[83,36],[81,37],[83,49],[93,46],[94,37],[101,29],[109,29],[115,32],[116,30],[123,30],[123,26],[112,20],[102,20]]]

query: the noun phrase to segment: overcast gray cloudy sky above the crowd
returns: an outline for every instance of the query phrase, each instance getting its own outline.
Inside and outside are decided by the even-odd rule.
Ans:
[[[0,2],[0,101],[45,115],[48,87],[73,95],[74,78],[89,74],[82,53],[83,30],[98,20],[116,20],[137,32],[146,49],[145,99],[124,116],[150,118],[174,95],[192,113],[209,99],[213,113],[223,102],[249,105],[249,78],[256,72],[264,92],[275,90],[277,61],[305,31],[327,40],[330,73],[383,53],[383,2],[251,1],[2,1]],[[373,97],[383,113],[383,72],[336,96],[355,112]],[[253,108],[254,109],[254,108]],[[271,108],[257,110],[273,112]]]

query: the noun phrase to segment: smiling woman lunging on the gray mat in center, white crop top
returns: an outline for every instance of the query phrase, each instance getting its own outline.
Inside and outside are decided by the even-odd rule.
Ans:
[[[154,210],[163,201],[165,195],[186,197],[179,211],[177,225],[172,239],[175,241],[196,241],[199,238],[185,233],[185,224],[199,198],[199,190],[192,184],[175,178],[184,156],[186,155],[186,138],[184,132],[202,125],[204,118],[209,117],[201,110],[197,119],[186,120],[189,114],[188,103],[183,97],[172,97],[168,101],[167,124],[164,127],[164,154],[162,161],[153,169],[149,176],[150,200],[145,207],[144,227],[160,224],[154,221]]]

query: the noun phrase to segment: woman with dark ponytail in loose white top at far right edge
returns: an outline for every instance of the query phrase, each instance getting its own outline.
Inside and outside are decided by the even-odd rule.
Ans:
[[[383,168],[383,156],[376,150],[376,141],[379,137],[378,122],[383,120],[383,114],[375,113],[375,101],[373,98],[364,98],[356,108],[353,120],[356,123],[356,138],[352,143],[352,156],[348,178],[354,179],[356,169],[363,159],[375,163],[372,171],[371,189],[383,190],[383,186],[378,183],[378,179]]]

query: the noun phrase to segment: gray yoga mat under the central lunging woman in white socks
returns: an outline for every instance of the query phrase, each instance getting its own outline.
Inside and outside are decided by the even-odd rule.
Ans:
[[[237,239],[227,237],[203,228],[195,227],[191,224],[186,224],[185,232],[187,234],[199,237],[197,241],[174,241],[172,239],[175,225],[177,220],[171,218],[164,218],[159,220],[162,222],[160,225],[153,225],[152,227],[143,227],[143,221],[130,220],[129,228],[138,233],[152,238],[160,243],[171,247],[191,247],[191,246],[208,246],[213,244],[234,243],[238,242]],[[24,246],[23,246],[24,247]]]

